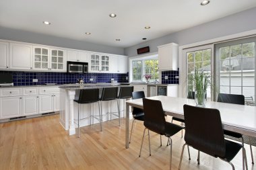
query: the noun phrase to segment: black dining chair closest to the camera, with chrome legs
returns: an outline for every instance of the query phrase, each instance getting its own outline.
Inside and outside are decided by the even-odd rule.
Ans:
[[[184,105],[184,117],[186,124],[185,144],[181,152],[181,160],[179,169],[183,159],[183,151],[186,145],[211,155],[212,157],[219,157],[232,166],[230,162],[243,150],[243,169],[248,169],[246,151],[242,144],[225,140],[222,128],[222,120],[220,118],[219,110],[212,108],[199,108],[191,105]]]

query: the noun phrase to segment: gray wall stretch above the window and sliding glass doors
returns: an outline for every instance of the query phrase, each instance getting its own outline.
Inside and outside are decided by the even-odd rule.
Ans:
[[[136,56],[137,48],[141,48],[143,46],[150,46],[150,52],[157,52],[157,46],[168,44],[170,42],[175,42],[181,46],[203,40],[228,36],[230,34],[236,34],[239,32],[255,30],[255,16],[256,7],[240,13],[235,13],[234,15],[216,19],[212,22],[207,22],[193,28],[188,28],[180,32],[175,32],[167,36],[125,48],[125,55]]]

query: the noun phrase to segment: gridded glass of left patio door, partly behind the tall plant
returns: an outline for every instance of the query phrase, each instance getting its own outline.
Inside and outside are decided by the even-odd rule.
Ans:
[[[193,87],[195,69],[206,71],[211,75],[212,48],[210,46],[200,46],[186,49],[184,52],[187,60],[187,92],[195,91],[195,87]],[[206,95],[211,97],[211,87],[208,87]]]

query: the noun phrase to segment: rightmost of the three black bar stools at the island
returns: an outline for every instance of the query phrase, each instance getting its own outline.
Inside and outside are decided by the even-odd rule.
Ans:
[[[126,99],[131,99],[133,97],[133,86],[121,86],[119,91],[119,112],[123,112],[123,117],[125,117],[125,101]],[[120,99],[123,99],[124,110],[120,110]],[[119,113],[120,115],[120,113]]]

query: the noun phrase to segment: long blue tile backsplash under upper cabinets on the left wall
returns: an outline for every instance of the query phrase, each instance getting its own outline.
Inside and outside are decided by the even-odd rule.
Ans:
[[[1,73],[11,73],[14,85],[44,85],[46,83],[57,83],[58,85],[77,83],[77,79],[84,78],[84,83],[110,83],[110,79],[115,79],[119,83],[128,83],[129,73],[44,73],[44,72],[24,72],[24,71],[0,71]],[[38,79],[33,83],[33,79]],[[90,81],[94,79],[94,81]]]

